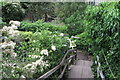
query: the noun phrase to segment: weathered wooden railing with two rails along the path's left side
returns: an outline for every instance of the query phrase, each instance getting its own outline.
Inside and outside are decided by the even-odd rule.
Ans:
[[[74,53],[73,55],[68,55],[69,53]],[[59,69],[62,69],[62,67],[64,66],[63,70],[61,70],[61,74],[58,76],[58,80],[61,79],[64,75],[64,72],[67,68],[67,66],[71,63],[71,62],[75,62],[76,60],[76,54],[77,53],[77,49],[70,49],[66,52],[66,54],[64,55],[62,61],[55,66],[53,69],[51,69],[50,71],[46,72],[45,74],[43,74],[42,76],[40,76],[38,79],[36,80],[44,80],[46,78],[48,78],[50,75],[52,75],[54,72],[56,72]]]

